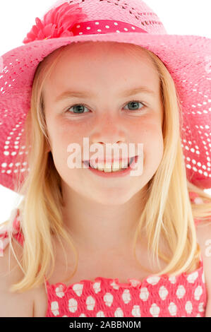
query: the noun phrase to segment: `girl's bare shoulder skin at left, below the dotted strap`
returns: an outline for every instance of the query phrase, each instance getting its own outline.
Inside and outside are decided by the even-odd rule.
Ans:
[[[21,261],[22,247],[12,239],[13,249]],[[0,257],[0,317],[33,317],[35,290],[11,292],[11,285],[23,278],[23,271],[18,265],[10,245]]]

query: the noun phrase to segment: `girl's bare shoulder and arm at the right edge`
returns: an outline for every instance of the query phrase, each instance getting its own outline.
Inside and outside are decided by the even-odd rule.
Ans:
[[[196,227],[196,235],[203,259],[207,287],[206,317],[211,317],[211,221],[199,223]]]

